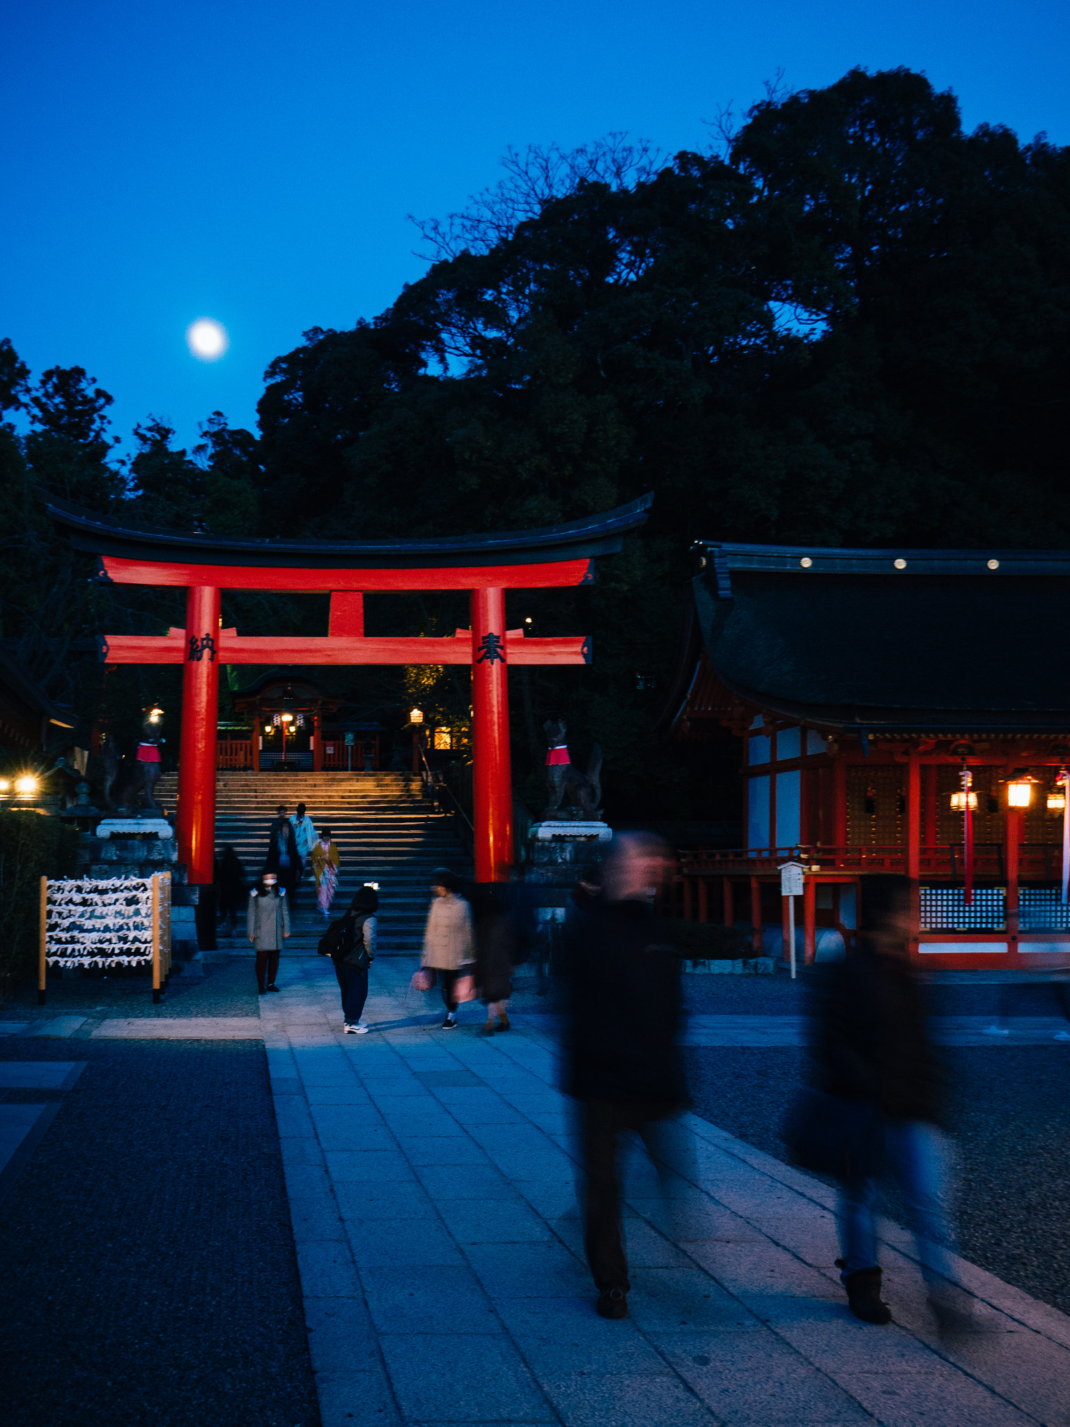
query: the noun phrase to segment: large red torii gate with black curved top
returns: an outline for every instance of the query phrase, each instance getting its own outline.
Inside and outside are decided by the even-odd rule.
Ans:
[[[220,664],[467,664],[472,669],[475,880],[504,882],[512,862],[509,664],[589,664],[589,638],[528,638],[505,628],[506,589],[588,585],[593,557],[615,554],[646,519],[652,495],[603,515],[514,534],[415,541],[227,539],[137,527],[47,498],[98,579],[184,586],[185,628],[106,635],[107,664],[181,664],[178,856],[191,883],[214,879],[215,725]],[[330,594],[327,636],[271,638],[223,629],[221,589]],[[370,591],[465,589],[472,628],[445,638],[365,638]]]

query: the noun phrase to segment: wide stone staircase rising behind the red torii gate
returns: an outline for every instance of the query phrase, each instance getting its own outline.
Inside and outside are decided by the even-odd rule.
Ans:
[[[414,773],[233,773],[215,775],[215,846],[231,843],[253,878],[267,853],[268,825],[275,808],[295,812],[305,803],[317,828],[330,828],[341,858],[338,890],[331,908],[340,916],[362,882],[379,883],[379,953],[418,952],[429,902],[428,875],[448,866],[471,875],[448,818],[431,811]],[[177,775],[164,773],[157,796],[174,806]],[[290,956],[310,956],[325,920],[315,905],[315,882],[301,882],[291,909]],[[220,952],[251,950],[238,919],[235,936],[218,930]]]

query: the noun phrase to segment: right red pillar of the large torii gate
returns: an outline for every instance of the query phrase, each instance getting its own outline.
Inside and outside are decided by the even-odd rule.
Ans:
[[[508,882],[512,865],[512,771],[505,591],[474,589],[471,605],[475,880]]]

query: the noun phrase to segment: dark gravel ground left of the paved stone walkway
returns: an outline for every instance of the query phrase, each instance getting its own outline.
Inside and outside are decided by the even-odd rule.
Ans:
[[[43,1013],[255,1015],[248,980],[210,968],[160,1007],[133,979],[58,982]],[[6,1427],[318,1427],[264,1047],[88,1029],[0,1042],[88,1062],[63,1095],[6,1092],[63,1102],[0,1206]]]

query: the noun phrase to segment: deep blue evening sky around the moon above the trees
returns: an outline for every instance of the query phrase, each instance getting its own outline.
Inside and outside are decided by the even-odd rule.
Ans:
[[[86,367],[117,434],[254,427],[267,362],[382,311],[425,270],[407,214],[496,180],[508,146],[626,130],[676,151],[783,71],[923,70],[967,127],[1070,141],[1061,0],[71,0],[0,30],[0,335]],[[184,332],[223,323],[198,362]]]

